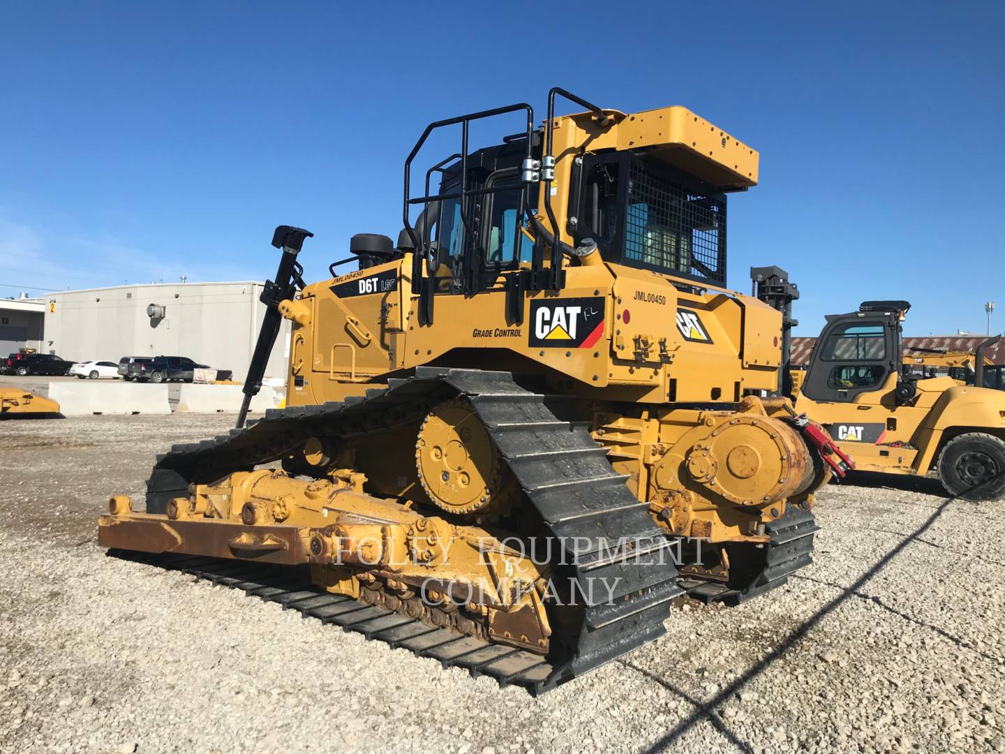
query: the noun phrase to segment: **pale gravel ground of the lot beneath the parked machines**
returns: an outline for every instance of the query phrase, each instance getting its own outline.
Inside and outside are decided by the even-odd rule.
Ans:
[[[0,424],[0,750],[1005,751],[1000,506],[831,486],[815,564],[533,699],[105,557],[110,493],[232,417]]]

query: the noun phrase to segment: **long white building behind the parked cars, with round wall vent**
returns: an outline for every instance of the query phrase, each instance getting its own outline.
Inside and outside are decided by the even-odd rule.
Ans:
[[[243,382],[265,313],[261,290],[260,282],[188,282],[46,294],[38,350],[71,361],[187,356]],[[285,377],[288,348],[283,320],[266,377]]]

